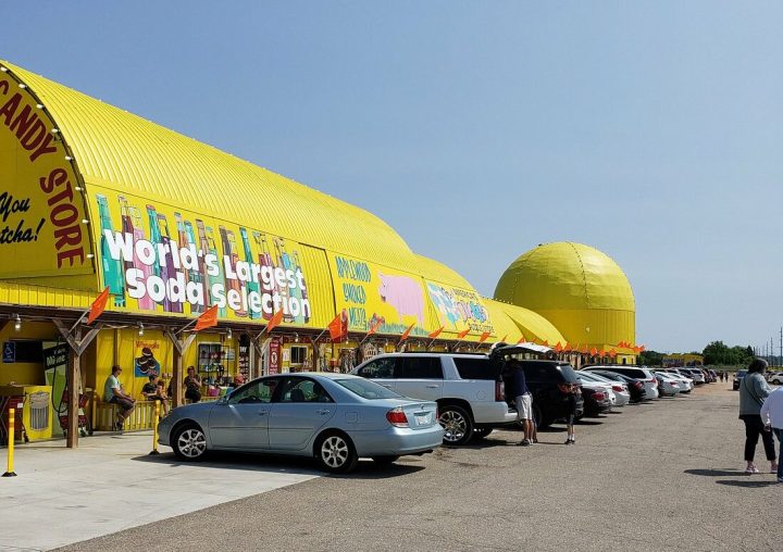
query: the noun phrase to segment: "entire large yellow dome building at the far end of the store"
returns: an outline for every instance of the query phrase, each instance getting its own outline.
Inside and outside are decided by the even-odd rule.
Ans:
[[[611,258],[582,243],[546,243],[524,253],[500,277],[495,299],[535,311],[571,343],[635,340],[627,277]]]

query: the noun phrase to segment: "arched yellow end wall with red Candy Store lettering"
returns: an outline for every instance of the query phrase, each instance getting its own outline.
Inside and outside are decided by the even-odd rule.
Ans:
[[[95,272],[82,188],[42,108],[0,73],[0,278]]]

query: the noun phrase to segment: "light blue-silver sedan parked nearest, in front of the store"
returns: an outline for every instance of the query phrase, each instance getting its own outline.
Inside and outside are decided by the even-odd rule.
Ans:
[[[443,441],[436,403],[324,373],[254,379],[216,402],[174,409],[159,431],[185,461],[211,450],[290,454],[313,456],[332,473],[350,472],[360,456],[390,463]]]

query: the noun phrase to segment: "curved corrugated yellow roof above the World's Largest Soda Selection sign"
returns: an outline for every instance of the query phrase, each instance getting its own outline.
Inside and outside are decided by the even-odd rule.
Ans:
[[[408,244],[384,221],[63,85],[8,65],[41,99],[87,183],[248,225],[285,238],[413,269]]]

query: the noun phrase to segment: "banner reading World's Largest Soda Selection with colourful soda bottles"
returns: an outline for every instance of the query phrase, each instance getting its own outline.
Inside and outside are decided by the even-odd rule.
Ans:
[[[278,236],[90,186],[110,310],[310,325],[302,246]]]

